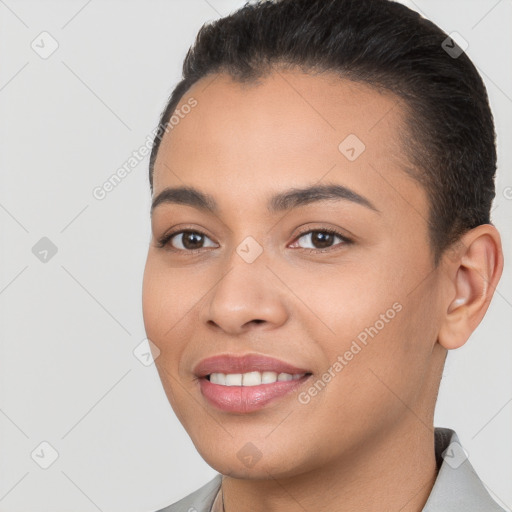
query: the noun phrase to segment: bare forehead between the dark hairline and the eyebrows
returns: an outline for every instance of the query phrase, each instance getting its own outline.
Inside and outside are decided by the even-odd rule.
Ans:
[[[193,108],[183,108],[191,101]],[[176,113],[155,161],[155,195],[186,184],[226,199],[235,192],[263,197],[269,188],[325,178],[391,198],[396,190],[382,190],[383,174],[410,181],[399,98],[333,74],[276,71],[245,84],[209,75],[185,93]],[[407,186],[422,194],[415,183]]]

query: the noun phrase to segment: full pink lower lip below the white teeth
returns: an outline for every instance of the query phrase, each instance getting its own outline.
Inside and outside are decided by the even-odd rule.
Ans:
[[[223,386],[206,377],[199,379],[201,393],[214,406],[227,412],[248,413],[265,407],[269,402],[296,390],[311,374],[297,380],[277,381],[258,386]]]

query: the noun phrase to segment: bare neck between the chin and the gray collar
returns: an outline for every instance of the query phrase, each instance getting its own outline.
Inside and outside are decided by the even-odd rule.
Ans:
[[[225,512],[421,512],[437,476],[434,430],[410,416],[363,450],[307,473],[266,480],[224,476]]]

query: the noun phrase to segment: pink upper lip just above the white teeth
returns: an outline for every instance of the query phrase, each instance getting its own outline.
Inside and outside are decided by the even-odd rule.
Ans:
[[[276,373],[310,373],[309,370],[298,368],[290,363],[261,354],[220,354],[201,360],[194,368],[197,377],[205,377],[211,373],[247,373],[254,371]]]

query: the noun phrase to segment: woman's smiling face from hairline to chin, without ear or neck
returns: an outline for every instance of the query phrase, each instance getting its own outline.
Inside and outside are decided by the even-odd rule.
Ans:
[[[167,397],[202,457],[232,476],[284,477],[425,428],[444,359],[440,273],[426,194],[404,171],[398,99],[328,75],[241,85],[219,74],[177,112],[153,200],[190,187],[216,209],[160,196],[143,315]],[[270,203],[325,185],[341,194]],[[221,354],[269,356],[310,375],[242,412],[254,389],[195,372]],[[231,409],[204,390],[230,393]]]

